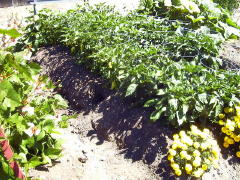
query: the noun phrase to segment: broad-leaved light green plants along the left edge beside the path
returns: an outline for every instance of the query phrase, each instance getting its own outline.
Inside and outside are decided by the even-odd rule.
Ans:
[[[20,35],[16,30],[0,33]],[[56,112],[67,103],[53,92],[49,79],[39,75],[40,66],[26,60],[28,54],[28,50],[12,53],[10,47],[0,50],[0,133],[4,133],[0,144],[9,143],[14,152],[7,160],[6,149],[0,146],[0,179],[17,179],[12,162],[18,162],[27,175],[30,168],[61,156],[61,140],[55,134],[63,121]]]

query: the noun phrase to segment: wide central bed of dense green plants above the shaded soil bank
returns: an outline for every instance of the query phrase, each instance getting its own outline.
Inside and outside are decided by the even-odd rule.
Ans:
[[[123,16],[102,5],[47,10],[30,17],[22,45],[69,47],[79,63],[110,80],[109,87],[154,107],[152,121],[180,126],[214,120],[223,105],[239,98],[239,74],[227,73],[218,58],[221,43],[234,33],[169,19],[136,12]]]

